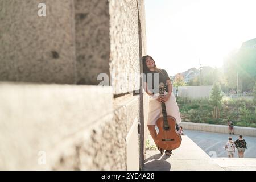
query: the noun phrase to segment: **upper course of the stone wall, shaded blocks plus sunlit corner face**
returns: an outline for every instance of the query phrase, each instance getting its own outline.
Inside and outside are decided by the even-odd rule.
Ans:
[[[139,89],[129,73],[139,73],[139,16],[146,52],[143,1],[0,2],[1,81],[97,85],[106,73],[115,94]]]

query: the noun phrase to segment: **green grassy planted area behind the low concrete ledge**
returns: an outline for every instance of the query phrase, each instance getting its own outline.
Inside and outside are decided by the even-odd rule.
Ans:
[[[220,117],[213,119],[213,106],[208,99],[177,98],[182,121],[227,125],[231,119],[235,126],[256,127],[255,102],[245,98],[222,99]]]

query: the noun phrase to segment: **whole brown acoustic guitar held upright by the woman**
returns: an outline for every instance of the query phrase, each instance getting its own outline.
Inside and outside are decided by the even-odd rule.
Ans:
[[[164,96],[166,86],[159,84],[159,95]],[[166,104],[161,102],[163,117],[158,118],[156,126],[159,132],[156,135],[156,143],[158,147],[165,150],[174,150],[181,144],[181,136],[176,130],[176,119],[166,113]]]

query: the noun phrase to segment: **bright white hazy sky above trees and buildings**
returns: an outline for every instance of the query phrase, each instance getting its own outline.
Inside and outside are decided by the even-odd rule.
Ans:
[[[256,0],[144,1],[147,55],[168,75],[199,63],[220,68],[226,55],[256,38]]]

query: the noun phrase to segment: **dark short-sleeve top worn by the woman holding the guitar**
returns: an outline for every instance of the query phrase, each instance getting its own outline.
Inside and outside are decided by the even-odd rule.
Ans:
[[[163,82],[165,85],[166,85],[166,92],[168,92],[168,85],[166,84],[166,81],[167,80],[171,80],[170,79],[170,77],[168,76],[168,73],[166,72],[166,70],[165,69],[160,69],[160,71],[162,71],[163,73],[159,73],[159,72],[157,72],[157,71],[148,71],[147,72],[147,74],[146,74],[146,80],[144,80],[144,82],[149,82],[149,80],[148,79],[150,79],[151,78],[151,76],[152,76],[152,86],[151,85],[147,85],[147,88],[148,88],[148,90],[150,90],[150,92],[152,92],[152,93],[154,93],[154,94],[156,94],[156,93],[158,93],[159,92],[159,88],[157,87],[156,89],[154,89],[154,81],[155,81],[155,74],[158,74],[158,76],[159,76],[159,82],[158,82],[158,84],[160,84],[160,82]],[[151,74],[151,76],[148,76],[148,75],[150,75]]]

